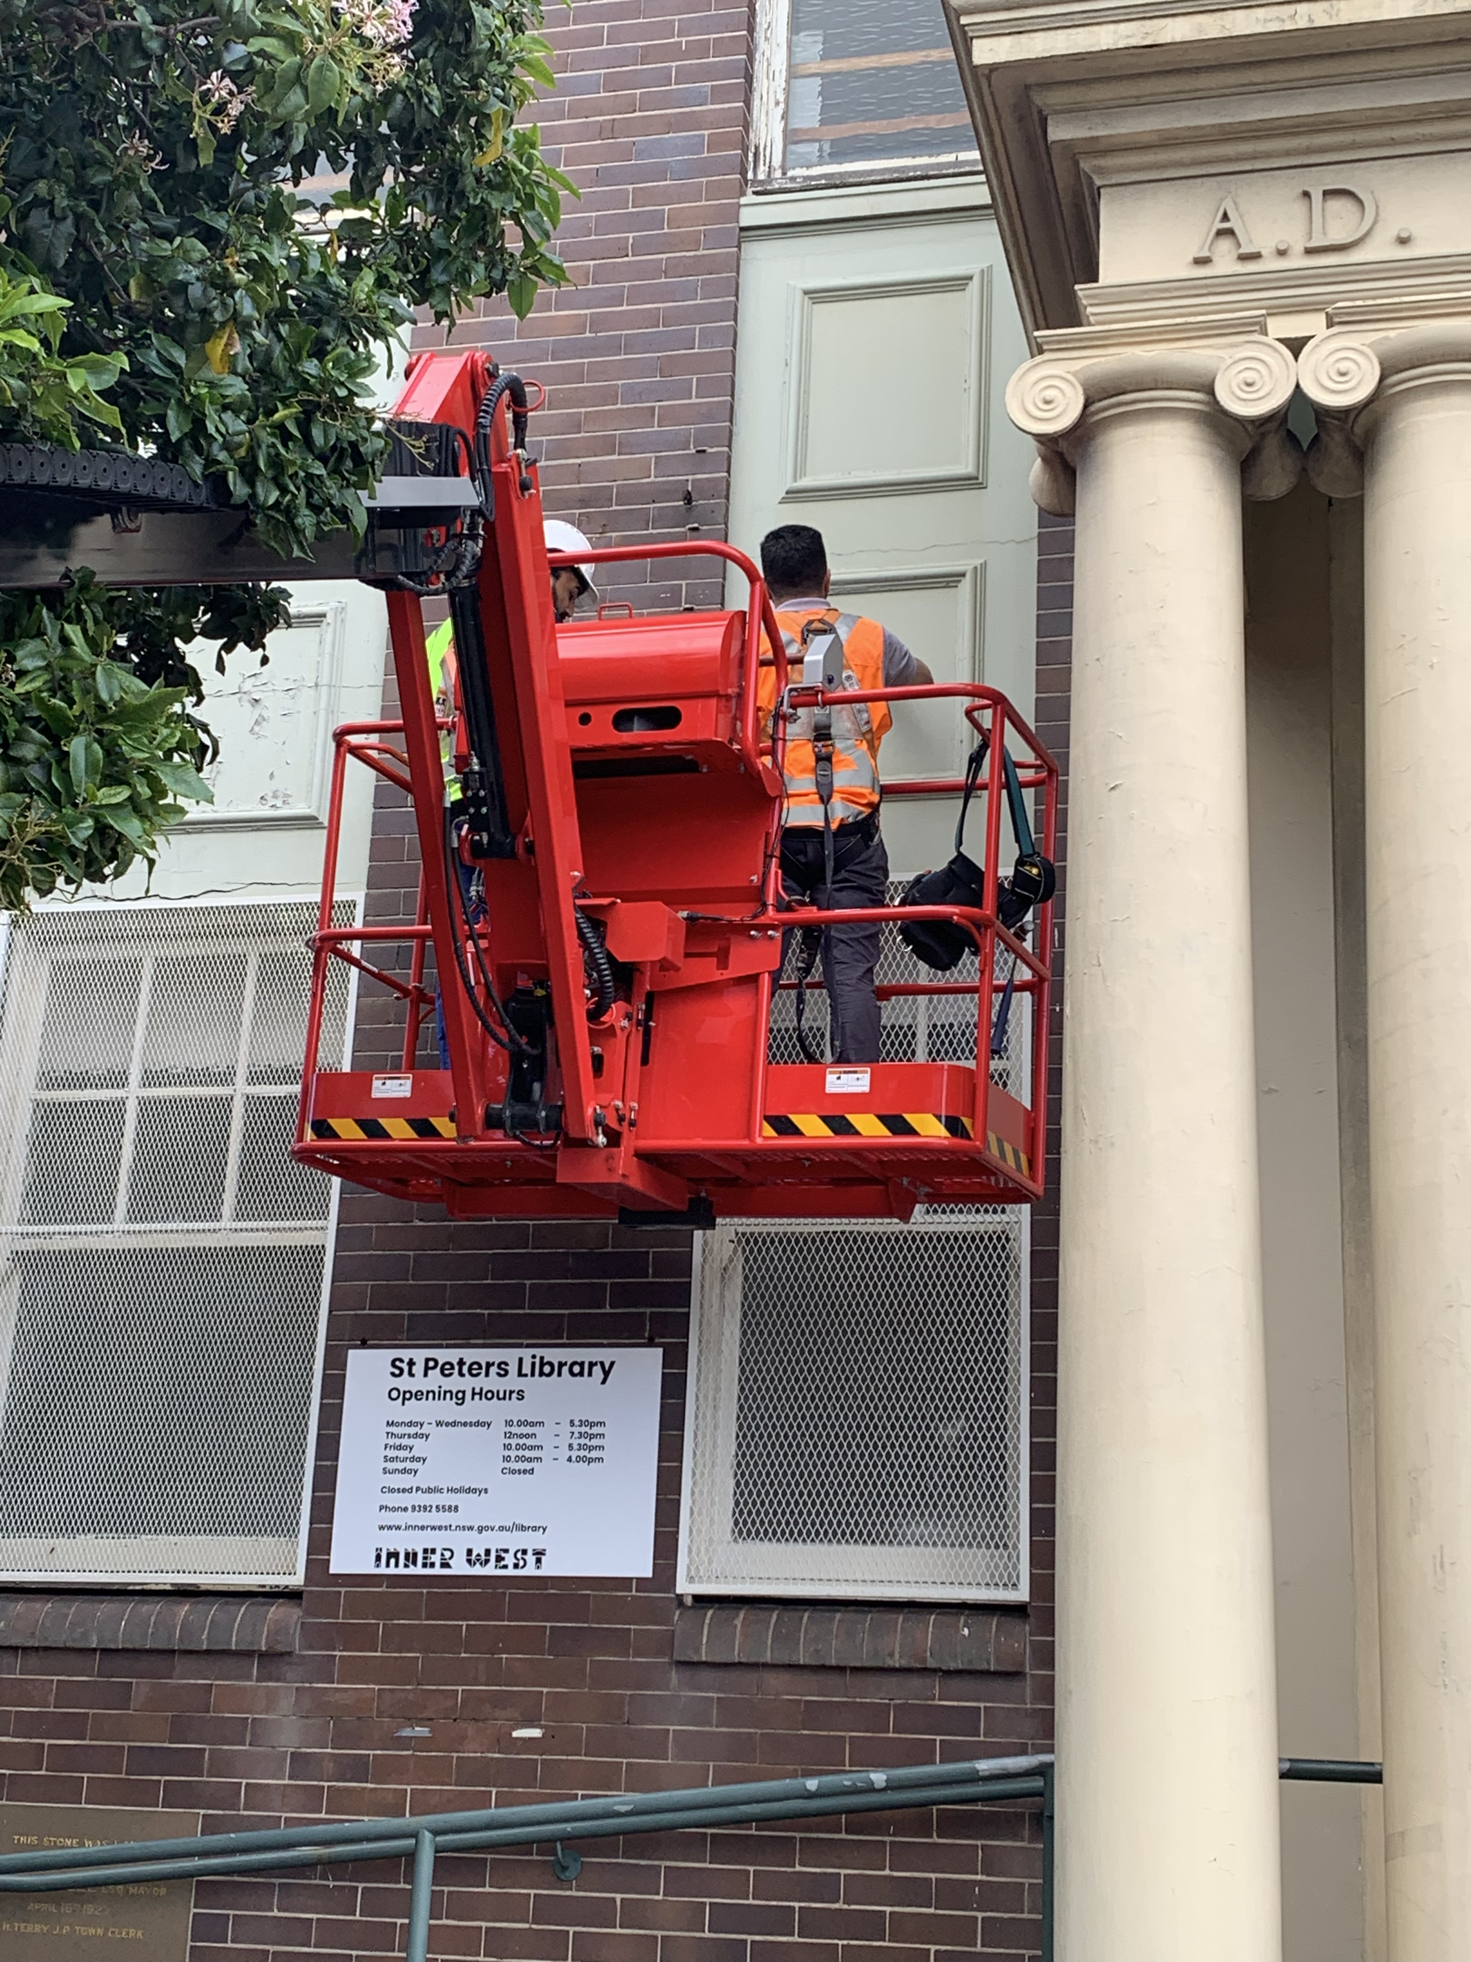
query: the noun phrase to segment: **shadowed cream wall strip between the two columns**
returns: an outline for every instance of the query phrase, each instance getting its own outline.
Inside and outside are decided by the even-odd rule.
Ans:
[[[1328,500],[1247,504],[1247,771],[1285,1756],[1359,1754],[1338,1154]],[[1359,1962],[1359,1797],[1283,1785],[1285,1962]]]

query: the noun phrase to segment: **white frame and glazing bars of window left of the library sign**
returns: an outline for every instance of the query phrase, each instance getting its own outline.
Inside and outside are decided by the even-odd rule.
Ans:
[[[365,893],[337,895],[337,904],[343,903],[351,908],[353,922],[363,918]],[[237,897],[237,895],[210,895],[208,899],[141,899],[141,901],[106,901],[106,899],[78,899],[78,901],[47,901],[37,904],[33,910],[37,914],[98,914],[98,916],[135,916],[141,912],[222,912],[226,908],[255,908],[257,912],[275,910],[280,906],[302,906],[304,914],[318,904],[316,893],[280,893],[269,899],[261,897]],[[12,914],[0,916],[0,977],[4,977],[4,997],[8,1003],[10,995],[10,944],[14,938],[14,918]],[[102,934],[98,938],[104,938]],[[255,969],[251,967],[251,973]],[[249,983],[247,983],[249,985]],[[39,1014],[45,995],[37,991],[33,1010]],[[302,1005],[306,1010],[306,1003]],[[357,1020],[357,971],[349,969],[349,993],[343,1018],[343,1056],[341,1067],[349,1065],[353,1028]],[[306,1014],[302,1014],[302,1046],[304,1046],[304,1024]],[[143,1028],[143,1003],[139,1001],[135,1030]],[[243,1083],[241,1069],[247,1061],[247,1032],[251,1028],[249,1018],[243,1018],[241,1026],[241,1048],[235,1063],[235,1083],[229,1091],[231,1095],[231,1171],[237,1169],[239,1160],[239,1128],[243,1120]],[[39,1030],[37,1030],[39,1034]],[[139,1042],[133,1042],[133,1058],[127,1083],[127,1134],[135,1126],[137,1103],[139,1103]],[[143,1226],[127,1226],[120,1214],[126,1207],[127,1179],[120,1175],[118,1181],[118,1203],[114,1213],[114,1222],[88,1222],[78,1226],[18,1226],[20,1203],[25,1181],[25,1165],[29,1156],[29,1112],[33,1110],[35,1097],[35,1063],[39,1044],[29,1044],[29,1061],[25,1071],[12,1075],[8,1083],[0,1083],[0,1103],[10,1109],[10,1136],[0,1138],[2,1169],[0,1169],[0,1240],[6,1252],[16,1246],[35,1248],[37,1252],[59,1250],[59,1248],[80,1248],[96,1246],[106,1240],[110,1248],[137,1248],[137,1246],[180,1246],[192,1244],[202,1248],[233,1248],[233,1246],[320,1246],[322,1248],[322,1291],[318,1299],[318,1328],[316,1328],[316,1350],[312,1362],[312,1385],[308,1401],[308,1422],[302,1452],[302,1499],[296,1517],[296,1558],[290,1568],[284,1560],[275,1568],[243,1568],[229,1566],[229,1554],[239,1560],[241,1548],[259,1548],[263,1554],[271,1546],[279,1546],[279,1540],[261,1538],[222,1538],[210,1540],[206,1536],[178,1536],[161,1534],[137,1536],[131,1546],[137,1548],[139,1562],[126,1574],[118,1570],[84,1570],[84,1568],[0,1568],[0,1587],[25,1587],[25,1585],[45,1585],[45,1587],[94,1587],[102,1589],[122,1589],[135,1591],[139,1585],[145,1587],[208,1587],[212,1591],[255,1591],[261,1589],[296,1589],[306,1581],[306,1550],[308,1550],[308,1530],[312,1523],[312,1485],[316,1470],[316,1448],[318,1430],[322,1420],[322,1375],[326,1368],[328,1352],[328,1305],[331,1299],[331,1271],[337,1248],[337,1209],[341,1199],[341,1179],[331,1179],[328,1191],[328,1213],[322,1220],[302,1222],[302,1220],[229,1220],[210,1226],[208,1220],[182,1220],[178,1224],[169,1222],[147,1222]],[[255,1095],[261,1087],[255,1087]],[[82,1093],[86,1095],[86,1093]],[[118,1093],[106,1091],[96,1093],[98,1099],[106,1097],[116,1101]],[[190,1095],[188,1089],[173,1089],[167,1095]],[[200,1095],[222,1097],[222,1091],[200,1091]],[[288,1095],[284,1089],[280,1095]],[[67,1093],[59,1093],[65,1101]],[[75,1095],[71,1101],[78,1101]],[[24,1118],[24,1134],[22,1134]],[[124,1140],[124,1154],[127,1152],[127,1134]],[[226,1211],[233,1211],[233,1179],[228,1171],[228,1193]],[[16,1293],[10,1281],[0,1283],[0,1422],[4,1420],[4,1409],[10,1391],[10,1366],[14,1356],[14,1334],[16,1334]],[[84,1544],[84,1542],[82,1542]],[[177,1560],[177,1548],[188,1544],[192,1550],[208,1550],[212,1544],[220,1548],[220,1564],[210,1568],[190,1566],[169,1566],[169,1556]],[[149,1564],[147,1556],[153,1556]]]

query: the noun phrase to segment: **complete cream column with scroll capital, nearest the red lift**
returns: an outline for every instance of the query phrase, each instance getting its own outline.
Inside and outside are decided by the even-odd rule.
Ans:
[[[1096,339],[1049,336],[1008,396],[1040,498],[1077,473],[1057,1956],[1273,1962],[1242,461],[1291,469],[1242,418],[1271,430],[1294,373],[1265,339]]]

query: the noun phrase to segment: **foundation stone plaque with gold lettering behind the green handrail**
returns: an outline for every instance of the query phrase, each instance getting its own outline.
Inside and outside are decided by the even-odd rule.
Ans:
[[[198,1813],[143,1813],[110,1805],[0,1805],[0,1854],[106,1846],[116,1840],[190,1838]],[[0,1893],[4,1962],[186,1962],[194,1882]]]

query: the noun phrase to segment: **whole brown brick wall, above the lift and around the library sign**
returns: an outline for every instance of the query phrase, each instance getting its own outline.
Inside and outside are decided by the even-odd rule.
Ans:
[[[586,190],[563,228],[575,284],[514,330],[516,363],[553,388],[533,422],[547,506],[598,542],[724,536],[745,12],[579,0],[553,37],[549,147]],[[498,308],[457,332],[508,353]],[[1069,551],[1069,528],[1043,520],[1038,716],[1059,753]],[[665,606],[718,591],[712,579],[606,587]],[[410,812],[388,795],[373,910],[392,916],[414,877]],[[390,1058],[388,1034],[386,1007],[365,991],[363,1058]],[[1053,1030],[1053,1105],[1055,1093]],[[1034,1214],[1030,1611],[708,1613],[673,1593],[688,1234],[451,1224],[345,1193],[304,1597],[190,1613],[157,1599],[122,1611],[108,1597],[0,1599],[0,1797],[200,1809],[206,1829],[229,1829],[1045,1748],[1055,1260],[1049,1199]],[[653,1579],[333,1581],[345,1354],[406,1340],[659,1342]],[[1038,1948],[1028,1811],[628,1838],[586,1846],[584,1860],[573,1885],[547,1858],[447,1860],[431,1954],[1016,1962]],[[192,1962],[402,1952],[406,1899],[392,1864],[200,1884]]]

